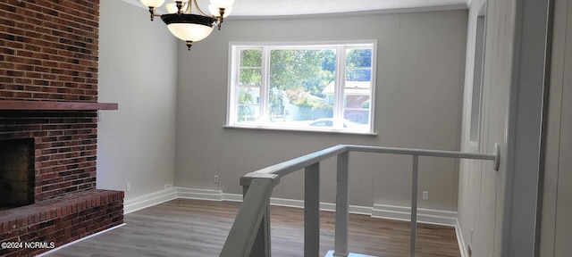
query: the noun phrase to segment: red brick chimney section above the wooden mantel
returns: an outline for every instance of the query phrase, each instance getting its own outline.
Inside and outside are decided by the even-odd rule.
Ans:
[[[0,99],[97,102],[99,0],[0,2]]]

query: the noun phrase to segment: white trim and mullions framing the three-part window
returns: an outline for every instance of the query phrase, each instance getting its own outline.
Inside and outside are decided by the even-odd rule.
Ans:
[[[260,125],[252,125],[252,124],[236,124],[232,122],[231,117],[233,117],[232,113],[235,112],[234,108],[236,107],[237,104],[234,103],[235,99],[234,99],[234,88],[235,85],[233,85],[233,82],[235,81],[235,79],[237,79],[238,74],[236,74],[236,70],[233,69],[236,65],[236,63],[233,62],[239,62],[240,58],[236,58],[236,56],[232,56],[233,54],[237,54],[237,53],[233,53],[232,48],[233,47],[245,47],[248,48],[248,46],[252,46],[252,48],[259,48],[260,46],[264,47],[270,47],[270,48],[280,48],[280,46],[284,46],[284,48],[290,48],[291,46],[300,46],[302,48],[308,48],[308,49],[323,49],[324,47],[332,47],[332,48],[344,48],[344,47],[350,47],[350,46],[359,46],[359,45],[366,45],[366,44],[370,44],[372,45],[372,70],[371,70],[371,83],[372,83],[372,87],[371,87],[371,95],[370,95],[370,111],[369,111],[369,125],[370,128],[368,131],[356,131],[356,130],[345,130],[345,129],[312,129],[312,128],[285,128],[285,127],[271,127],[271,126],[265,126],[265,120],[263,120],[264,122],[261,122]],[[376,39],[371,39],[371,40],[344,40],[344,41],[303,41],[303,42],[298,42],[298,41],[292,41],[292,42],[266,42],[266,41],[262,41],[262,42],[245,42],[245,41],[230,41],[229,42],[229,50],[228,50],[229,54],[228,54],[228,81],[227,81],[227,110],[226,110],[226,124],[223,126],[223,128],[226,129],[262,129],[262,130],[279,130],[279,131],[301,131],[301,132],[318,132],[318,133],[335,133],[335,134],[357,134],[357,135],[369,135],[369,136],[377,136],[377,133],[374,130],[374,112],[375,112],[375,92],[376,92],[376,73],[377,73],[377,40]],[[263,60],[262,60],[262,65],[263,67],[265,67],[265,65],[267,65],[266,67],[270,66],[270,60],[269,60],[269,56],[267,56],[269,54],[269,51],[263,51]],[[234,58],[233,58],[234,57]],[[344,65],[345,67],[345,54],[341,54],[341,58],[336,58],[336,67],[341,67],[339,65]],[[263,68],[264,69],[264,68]],[[340,83],[335,83],[336,84],[336,92],[341,92],[341,93],[337,93],[336,94],[336,106],[343,106],[343,89],[345,87],[345,74],[342,74],[343,72],[336,72],[336,81],[340,81]],[[261,85],[260,87],[260,95],[261,95],[261,113],[266,113],[267,108],[268,108],[268,104],[266,103],[266,99],[264,99],[262,97],[263,94],[266,94],[266,90],[267,88],[265,87],[265,85],[268,85],[270,78],[268,78],[266,72],[263,72],[263,77],[262,77],[262,83],[263,85]],[[264,99],[264,100],[263,100]],[[333,113],[333,117],[342,117],[343,116],[343,107],[339,107],[339,108],[334,108],[334,113]],[[336,113],[336,112],[341,112],[341,113]],[[266,119],[265,115],[262,115],[264,118],[262,119]],[[334,119],[336,120],[336,119]]]

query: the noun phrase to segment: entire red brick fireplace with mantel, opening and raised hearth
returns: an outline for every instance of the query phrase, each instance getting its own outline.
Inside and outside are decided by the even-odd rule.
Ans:
[[[98,0],[0,3],[0,249],[27,256],[123,222],[96,189]],[[53,244],[52,244],[53,243]]]

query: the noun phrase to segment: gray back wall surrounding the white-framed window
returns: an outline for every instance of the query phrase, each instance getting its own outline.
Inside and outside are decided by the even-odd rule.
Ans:
[[[377,39],[375,130],[378,136],[223,129],[230,41]],[[240,176],[338,144],[458,150],[467,11],[292,20],[231,20],[188,52],[179,43],[175,186],[240,194]],[[352,154],[350,204],[407,206],[410,157]],[[420,206],[457,211],[458,162],[422,158]],[[334,160],[322,165],[322,201],[334,202]],[[220,183],[215,184],[214,175]],[[302,199],[301,174],[274,197]]]

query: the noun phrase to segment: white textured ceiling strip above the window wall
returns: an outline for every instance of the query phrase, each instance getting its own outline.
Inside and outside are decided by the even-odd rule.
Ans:
[[[124,2],[145,7],[139,0]],[[171,0],[166,0],[169,3]],[[467,8],[471,0],[235,0],[230,17],[321,15],[347,12],[403,12]],[[198,0],[207,10],[208,1]]]

